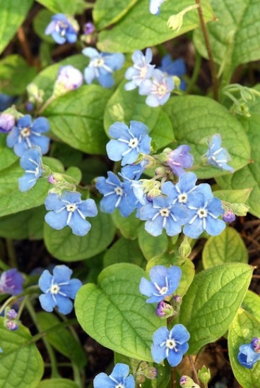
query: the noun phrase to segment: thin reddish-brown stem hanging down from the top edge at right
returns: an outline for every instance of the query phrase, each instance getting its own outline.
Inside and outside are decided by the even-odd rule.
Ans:
[[[214,63],[214,60],[213,60],[213,54],[212,54],[212,49],[211,49],[211,42],[209,40],[209,37],[208,37],[208,30],[206,28],[206,23],[205,23],[205,20],[203,18],[203,11],[202,11],[202,7],[201,7],[201,0],[195,0],[196,1],[196,4],[198,4],[198,13],[199,13],[199,21],[201,23],[201,30],[202,30],[202,33],[203,33],[203,37],[204,37],[204,40],[205,40],[205,44],[206,44],[206,49],[207,49],[207,52],[208,52],[208,60],[209,60],[209,66],[211,68],[211,77],[212,77],[212,83],[213,83],[213,97],[216,101],[218,101],[218,76],[217,76],[217,72],[215,70],[215,63]]]

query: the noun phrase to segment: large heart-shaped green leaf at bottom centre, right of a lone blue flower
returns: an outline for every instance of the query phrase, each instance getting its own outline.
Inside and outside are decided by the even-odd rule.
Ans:
[[[137,360],[152,361],[152,337],[162,320],[139,291],[142,276],[146,272],[132,264],[105,268],[98,286],[85,284],[78,291],[75,310],[85,332],[103,346]]]

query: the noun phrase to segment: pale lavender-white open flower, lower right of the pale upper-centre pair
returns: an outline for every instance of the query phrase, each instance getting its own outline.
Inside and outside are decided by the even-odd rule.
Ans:
[[[143,80],[139,87],[140,95],[148,95],[146,104],[149,107],[159,107],[170,98],[170,92],[175,87],[172,77],[165,77],[162,71],[155,68],[152,80]]]

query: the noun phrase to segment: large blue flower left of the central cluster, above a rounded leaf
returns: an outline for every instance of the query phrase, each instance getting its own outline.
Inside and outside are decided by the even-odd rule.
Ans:
[[[75,191],[64,191],[62,195],[50,193],[45,200],[45,207],[52,210],[45,215],[49,226],[59,231],[68,225],[77,236],[85,236],[91,228],[85,217],[98,214],[95,201],[90,198],[81,200],[81,193]]]

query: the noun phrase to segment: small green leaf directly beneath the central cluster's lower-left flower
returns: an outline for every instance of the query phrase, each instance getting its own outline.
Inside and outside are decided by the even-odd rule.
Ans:
[[[154,237],[148,234],[144,228],[138,229],[138,243],[146,260],[163,255],[168,248],[168,238],[165,233]]]

